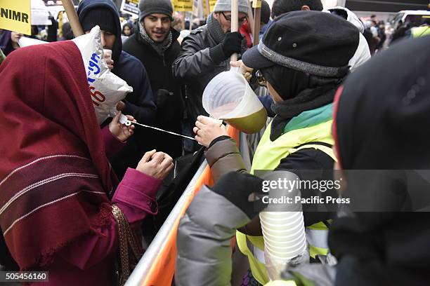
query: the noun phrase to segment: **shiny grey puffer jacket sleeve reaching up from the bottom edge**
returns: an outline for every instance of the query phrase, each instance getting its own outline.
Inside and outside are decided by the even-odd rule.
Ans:
[[[249,217],[225,197],[202,186],[178,227],[178,286],[226,286],[232,273],[230,240]]]

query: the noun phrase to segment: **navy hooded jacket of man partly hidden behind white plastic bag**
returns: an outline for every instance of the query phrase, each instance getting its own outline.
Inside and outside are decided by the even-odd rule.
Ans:
[[[122,50],[121,25],[119,24],[119,14],[115,4],[110,0],[84,0],[79,4],[77,10],[79,21],[82,22],[86,13],[96,7],[105,7],[114,14],[117,32],[115,43],[112,47],[112,60],[114,61],[112,72],[133,87],[133,92],[126,95],[124,100],[126,107],[122,113],[133,116],[138,122],[150,125],[155,121],[157,107],[154,103],[148,74],[143,64],[136,57]],[[126,147],[110,158],[112,167],[119,177],[124,175],[127,167],[136,167],[143,153],[148,151],[148,149],[139,144],[145,139],[144,130],[136,128]]]

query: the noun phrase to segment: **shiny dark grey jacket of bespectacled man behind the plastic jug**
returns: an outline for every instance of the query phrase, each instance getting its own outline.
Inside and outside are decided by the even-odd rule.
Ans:
[[[242,51],[245,50],[246,39],[242,43]],[[230,69],[230,57],[224,55],[221,43],[204,25],[183,39],[172,69],[174,76],[185,82],[186,108],[189,121],[194,123],[197,116],[208,115],[202,106],[203,90],[214,76]]]

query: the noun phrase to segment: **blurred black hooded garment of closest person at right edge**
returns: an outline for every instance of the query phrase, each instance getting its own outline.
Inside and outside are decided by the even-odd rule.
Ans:
[[[338,92],[333,137],[351,204],[329,235],[339,261],[336,285],[429,283],[430,54],[422,53],[429,44],[429,37],[414,39],[376,55]],[[374,177],[360,180],[348,170]],[[378,170],[394,177],[377,184]],[[393,205],[408,197],[409,210],[422,212]],[[367,209],[356,211],[353,198]]]

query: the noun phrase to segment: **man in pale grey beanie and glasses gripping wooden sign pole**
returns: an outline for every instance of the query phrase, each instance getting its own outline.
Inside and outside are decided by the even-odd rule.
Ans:
[[[248,1],[239,0],[239,26],[247,19]],[[186,84],[188,122],[185,132],[193,134],[197,116],[205,115],[202,94],[207,83],[222,71],[230,69],[230,55],[243,53],[246,40],[231,29],[231,0],[218,0],[214,12],[207,18],[207,25],[195,29],[181,45],[181,53],[173,65],[174,76]],[[185,146],[185,151],[197,148]]]

